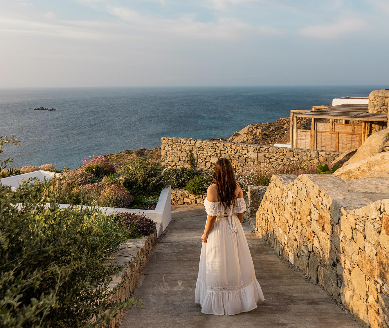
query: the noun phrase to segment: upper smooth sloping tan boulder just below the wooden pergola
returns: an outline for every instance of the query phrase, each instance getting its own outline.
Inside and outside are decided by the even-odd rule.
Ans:
[[[389,141],[389,129],[371,134],[345,164],[353,164],[362,161],[370,155],[384,151],[387,141]]]

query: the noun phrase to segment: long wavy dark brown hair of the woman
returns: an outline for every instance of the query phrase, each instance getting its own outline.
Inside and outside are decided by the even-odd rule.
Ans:
[[[237,181],[235,180],[234,169],[228,159],[219,158],[217,160],[213,179],[221,199],[221,204],[225,208],[232,208],[236,203],[235,190]]]

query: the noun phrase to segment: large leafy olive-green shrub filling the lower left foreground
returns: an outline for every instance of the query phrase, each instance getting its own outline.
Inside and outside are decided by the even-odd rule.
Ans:
[[[109,298],[111,277],[122,268],[109,251],[123,235],[88,223],[93,211],[61,210],[55,197],[46,209],[40,199],[39,186],[28,182],[16,192],[0,186],[0,326],[100,328],[119,309],[140,304]]]

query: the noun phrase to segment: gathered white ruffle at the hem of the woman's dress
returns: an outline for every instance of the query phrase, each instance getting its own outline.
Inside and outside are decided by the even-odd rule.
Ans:
[[[195,302],[200,304],[203,314],[215,316],[235,315],[258,307],[258,301],[265,300],[256,278],[238,290],[211,291],[203,279],[197,279]]]

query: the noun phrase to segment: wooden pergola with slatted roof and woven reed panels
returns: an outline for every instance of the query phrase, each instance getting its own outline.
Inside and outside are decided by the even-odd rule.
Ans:
[[[310,130],[298,129],[299,117],[312,119]],[[346,124],[346,120],[352,123]],[[387,113],[369,113],[367,104],[291,110],[291,147],[345,152],[361,146],[369,136],[372,122],[387,120]]]

